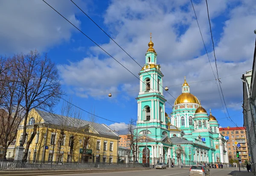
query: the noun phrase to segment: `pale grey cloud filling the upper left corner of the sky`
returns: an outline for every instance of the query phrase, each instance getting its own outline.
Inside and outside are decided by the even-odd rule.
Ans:
[[[47,1],[76,26],[80,22],[70,1]],[[0,1],[0,53],[45,51],[70,40],[75,31],[66,20],[41,0]]]

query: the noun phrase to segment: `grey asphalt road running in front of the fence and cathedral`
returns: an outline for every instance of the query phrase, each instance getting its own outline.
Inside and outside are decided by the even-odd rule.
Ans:
[[[232,169],[211,169],[210,176],[230,176]],[[136,170],[111,173],[76,173],[55,176],[189,176],[189,169],[167,168],[152,170]]]

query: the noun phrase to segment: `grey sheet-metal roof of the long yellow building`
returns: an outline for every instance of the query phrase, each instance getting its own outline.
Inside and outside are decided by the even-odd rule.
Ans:
[[[67,127],[81,128],[86,125],[93,127],[99,134],[109,135],[109,136],[119,136],[116,132],[111,130],[105,124],[98,124],[91,121],[85,121],[82,119],[66,117],[63,115],[53,114],[41,110],[35,109],[35,111],[44,119],[45,124],[54,124],[54,125],[65,125]]]

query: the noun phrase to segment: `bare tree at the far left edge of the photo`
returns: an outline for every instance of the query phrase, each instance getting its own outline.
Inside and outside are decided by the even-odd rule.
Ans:
[[[16,138],[23,115],[20,106],[23,87],[14,64],[15,59],[0,57],[0,140],[3,144],[3,159],[6,159],[7,148]]]

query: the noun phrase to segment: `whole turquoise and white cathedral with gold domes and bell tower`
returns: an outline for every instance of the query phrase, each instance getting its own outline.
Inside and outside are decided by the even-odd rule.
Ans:
[[[186,78],[172,113],[166,113],[163,92],[168,88],[163,89],[164,75],[157,64],[151,37],[148,46],[136,98],[138,119],[134,134],[137,134],[138,162],[228,163],[226,140],[219,132],[218,121],[211,110],[208,115],[198,98],[190,93]]]

